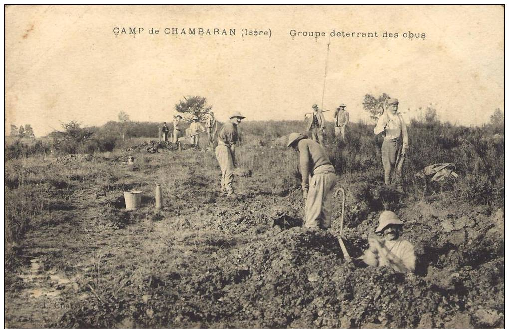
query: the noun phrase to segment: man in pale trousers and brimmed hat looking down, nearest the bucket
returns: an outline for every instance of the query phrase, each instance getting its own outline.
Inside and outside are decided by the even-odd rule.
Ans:
[[[221,191],[236,199],[233,191],[233,170],[235,169],[235,147],[239,142],[237,125],[245,116],[240,112],[230,114],[230,121],[224,123],[217,134],[216,158],[221,168]]]

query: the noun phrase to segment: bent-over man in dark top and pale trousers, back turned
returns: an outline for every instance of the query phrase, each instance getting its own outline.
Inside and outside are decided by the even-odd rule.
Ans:
[[[304,227],[327,229],[332,223],[336,173],[325,148],[299,133],[291,133],[288,147],[299,153],[306,216]]]

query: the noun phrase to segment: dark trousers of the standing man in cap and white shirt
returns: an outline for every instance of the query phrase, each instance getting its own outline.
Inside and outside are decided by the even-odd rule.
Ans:
[[[402,149],[401,137],[383,140],[382,164],[385,185],[391,183],[391,176],[394,176],[395,182],[401,183],[403,163],[405,162],[405,156],[401,154]]]

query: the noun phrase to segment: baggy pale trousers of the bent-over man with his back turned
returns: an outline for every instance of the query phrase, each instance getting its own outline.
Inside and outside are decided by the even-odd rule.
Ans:
[[[334,167],[323,165],[315,169],[309,180],[304,227],[329,228],[332,224],[332,203],[336,174]]]

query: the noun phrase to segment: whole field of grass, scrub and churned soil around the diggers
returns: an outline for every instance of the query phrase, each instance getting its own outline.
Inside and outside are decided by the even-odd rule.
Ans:
[[[503,326],[503,135],[413,123],[400,194],[382,184],[372,125],[352,124],[347,142],[328,127],[348,250],[361,255],[389,208],[418,257],[416,274],[402,275],[345,262],[340,200],[327,232],[274,225],[303,217],[297,156],[282,146],[303,124],[239,128],[238,164],[252,171],[235,177],[239,201],[221,197],[210,149],[126,151],[150,138],[92,156],[7,159],[6,325]],[[425,192],[414,175],[435,162],[454,162],[459,177]],[[133,189],[143,206],[128,212]]]

